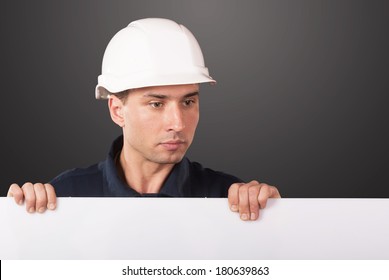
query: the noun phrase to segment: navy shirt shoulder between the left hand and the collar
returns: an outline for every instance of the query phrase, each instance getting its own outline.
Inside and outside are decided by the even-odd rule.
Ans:
[[[57,196],[94,196],[102,190],[101,163],[66,170],[51,180]]]

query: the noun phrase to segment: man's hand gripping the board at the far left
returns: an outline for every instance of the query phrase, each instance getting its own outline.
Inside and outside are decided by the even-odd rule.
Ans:
[[[43,213],[46,209],[54,210],[57,206],[57,195],[50,184],[25,183],[22,187],[12,184],[9,187],[7,197],[13,197],[15,202],[22,205],[26,201],[26,209],[29,213],[35,211]]]

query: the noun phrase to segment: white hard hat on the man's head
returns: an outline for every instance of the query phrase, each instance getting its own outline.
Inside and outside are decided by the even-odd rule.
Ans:
[[[96,98],[148,86],[216,83],[200,46],[183,25],[161,18],[131,22],[109,42]]]

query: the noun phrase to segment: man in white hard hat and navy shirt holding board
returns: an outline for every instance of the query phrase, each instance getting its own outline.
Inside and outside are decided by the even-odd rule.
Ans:
[[[277,188],[203,168],[185,153],[199,121],[199,84],[216,83],[195,37],[167,19],[130,23],[110,41],[97,99],[108,99],[123,135],[105,161],[66,171],[48,184],[12,184],[27,211],[55,209],[56,196],[227,197],[242,220],[256,220]]]

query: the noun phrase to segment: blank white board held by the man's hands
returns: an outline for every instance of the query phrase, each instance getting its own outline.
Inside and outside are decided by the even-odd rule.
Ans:
[[[0,259],[389,259],[389,199],[271,199],[243,222],[223,198],[0,198],[0,225]]]

